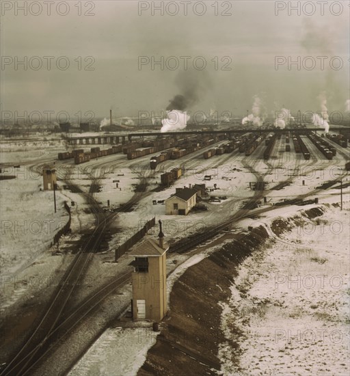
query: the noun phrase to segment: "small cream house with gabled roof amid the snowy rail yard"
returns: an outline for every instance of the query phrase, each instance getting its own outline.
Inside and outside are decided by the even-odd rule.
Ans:
[[[176,193],[165,200],[165,214],[187,215],[196,205],[197,190],[192,188],[177,188]]]

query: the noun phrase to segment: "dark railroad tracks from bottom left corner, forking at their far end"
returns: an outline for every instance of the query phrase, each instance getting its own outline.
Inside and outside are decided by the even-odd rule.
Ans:
[[[33,170],[40,171],[40,168],[41,165],[37,165],[33,167]],[[67,303],[70,297],[72,297],[72,294],[77,290],[78,282],[81,280],[87,266],[90,265],[92,258],[94,257],[94,253],[98,250],[98,247],[105,235],[105,230],[107,230],[109,224],[111,224],[111,222],[120,212],[127,211],[139,201],[141,195],[139,193],[135,193],[129,202],[126,202],[126,204],[120,206],[120,208],[116,209],[114,213],[108,213],[106,215],[106,213],[100,208],[98,202],[94,200],[92,193],[94,185],[98,185],[100,183],[99,179],[103,178],[103,174],[96,177],[94,176],[93,172],[91,172],[90,178],[92,178],[92,185],[90,186],[89,193],[83,192],[80,187],[73,184],[69,180],[69,170],[67,170],[65,181],[68,185],[74,187],[76,192],[81,193],[81,195],[87,198],[87,202],[90,204],[92,213],[96,218],[96,226],[89,239],[87,239],[85,245],[81,247],[79,252],[73,258],[72,263],[70,263],[68,269],[64,273],[64,276],[59,282],[57,290],[51,298],[51,301],[49,301],[43,316],[38,322],[38,325],[36,325],[33,332],[31,332],[31,335],[22,345],[21,349],[16,351],[16,354],[12,356],[10,362],[6,364],[0,375],[27,374],[29,370],[31,370],[31,368],[33,368],[33,366],[40,362],[40,360],[44,357],[47,349],[53,346],[53,333],[58,327],[62,327],[61,325],[66,322],[67,319],[62,321],[62,317],[64,317],[64,314],[67,312]],[[103,293],[105,291],[109,291],[109,293],[111,293],[111,291],[113,291],[113,286],[118,285],[118,281],[120,282],[120,278],[111,282],[108,286],[103,286],[100,292]],[[114,287],[114,289],[115,288],[116,287]],[[79,304],[80,310],[79,308],[76,308],[75,313],[70,312],[68,318],[74,316],[75,319],[77,319],[79,317],[79,312],[81,312],[83,308],[86,308],[87,304],[92,304],[92,306],[96,306],[96,304],[98,304],[93,304],[96,299],[96,295],[92,295],[92,297],[90,297],[85,304]]]

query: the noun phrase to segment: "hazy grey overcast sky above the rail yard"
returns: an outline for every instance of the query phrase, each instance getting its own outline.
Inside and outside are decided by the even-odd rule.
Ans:
[[[288,8],[276,16],[274,1],[252,0],[230,1],[230,9],[228,1],[218,1],[218,15],[215,1],[205,1],[206,12],[202,16],[194,14],[191,5],[185,16],[181,4],[177,15],[166,14],[166,9],[163,16],[159,11],[152,15],[152,3],[159,5],[160,1],[67,1],[70,10],[64,16],[57,14],[55,8],[63,1],[55,1],[50,16],[46,5],[38,16],[30,14],[38,12],[38,5],[31,9],[28,5],[25,16],[22,10],[8,10],[10,1],[2,3],[2,111],[93,111],[96,116],[109,116],[110,108],[116,116],[161,111],[174,95],[183,94],[184,60],[180,56],[191,57],[189,67],[195,57],[202,56],[206,61],[204,70],[193,72],[194,81],[200,81],[200,86],[190,111],[208,112],[212,108],[243,116],[251,109],[254,95],[264,100],[268,113],[282,105],[292,112],[318,111],[321,108],[317,97],[321,92],[327,96],[329,111],[345,111],[345,101],[349,99],[349,1],[342,1],[344,9],[339,15],[330,12],[332,2],[325,3],[323,16],[320,5],[312,16],[303,14],[302,9],[300,16],[296,11],[288,16]],[[150,8],[139,15],[141,3]],[[282,8],[282,2],[278,3]],[[285,2],[287,7],[288,3]],[[90,11],[94,16],[79,16],[79,4],[82,13]],[[170,12],[174,9],[174,5],[169,8]],[[226,9],[232,15],[221,15]],[[64,5],[59,10],[66,11]],[[196,11],[202,12],[202,7],[198,5]],[[311,8],[306,8],[306,12],[310,13]],[[332,12],[338,13],[338,8],[332,8]],[[23,60],[24,56],[28,61],[33,56],[42,58],[42,68],[33,70],[29,62],[27,70],[23,65],[16,67],[16,57]],[[44,56],[54,57],[51,70]],[[70,62],[67,70],[55,67],[61,56]],[[79,56],[81,70],[75,62]],[[160,60],[163,56],[166,60],[174,56],[180,66],[175,70],[155,66],[152,70],[146,64],[139,69],[140,56],[145,62],[148,58]],[[278,70],[275,56],[286,58]],[[307,70],[301,64],[298,70],[293,65],[288,70],[288,56],[293,60],[300,56],[301,63],[311,56],[317,66]],[[327,57],[323,69],[317,56]],[[334,56],[342,59],[344,66],[340,70],[329,68]],[[84,62],[85,57],[94,61],[90,58]],[[229,58],[230,70],[221,70]],[[31,62],[34,67],[38,65],[38,59]],[[90,62],[94,70],[84,70]],[[170,64],[174,62],[176,59]],[[201,61],[197,62],[200,66]],[[304,62],[310,66],[312,59]],[[338,59],[333,62],[337,68]],[[65,64],[64,60],[60,63]],[[185,73],[187,81],[191,73]],[[191,85],[191,80],[187,82]]]

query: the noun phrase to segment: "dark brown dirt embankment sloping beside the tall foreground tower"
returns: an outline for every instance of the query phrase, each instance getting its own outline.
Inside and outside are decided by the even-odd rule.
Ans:
[[[239,263],[267,238],[265,228],[254,228],[185,271],[172,288],[170,311],[138,375],[217,374],[219,344],[227,341],[219,302],[230,297]],[[238,350],[235,338],[230,345]]]

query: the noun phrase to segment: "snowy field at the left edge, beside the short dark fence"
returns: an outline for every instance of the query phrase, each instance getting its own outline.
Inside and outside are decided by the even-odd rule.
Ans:
[[[40,191],[42,176],[22,166],[9,174],[16,178],[1,180],[0,271],[15,273],[46,250],[53,237],[68,221],[65,198],[56,191]]]

